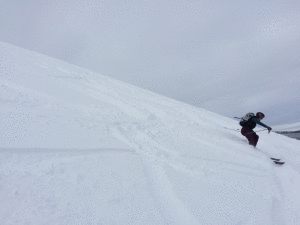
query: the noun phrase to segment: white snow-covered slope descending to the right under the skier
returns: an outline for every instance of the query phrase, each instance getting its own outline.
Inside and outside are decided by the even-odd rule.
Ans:
[[[299,224],[298,140],[254,149],[207,110],[1,42],[0,60],[0,224]]]

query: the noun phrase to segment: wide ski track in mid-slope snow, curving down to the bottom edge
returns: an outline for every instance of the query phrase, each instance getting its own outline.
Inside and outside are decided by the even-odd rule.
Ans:
[[[127,129],[132,132],[134,128],[130,126]],[[188,171],[184,165],[174,162],[176,154],[158,145],[152,138],[145,135],[149,131],[139,132],[140,129],[135,129],[135,135],[130,134],[130,137],[126,137],[127,132],[121,127],[117,127],[114,134],[120,140],[134,147],[137,153],[144,156],[143,158],[146,158],[144,160],[145,175],[151,187],[150,190],[155,196],[156,205],[164,215],[165,224],[199,224],[197,218],[186,209],[184,203],[174,192],[172,184],[165,174],[164,163],[168,163],[176,170],[187,172],[187,174],[193,175],[193,173]]]

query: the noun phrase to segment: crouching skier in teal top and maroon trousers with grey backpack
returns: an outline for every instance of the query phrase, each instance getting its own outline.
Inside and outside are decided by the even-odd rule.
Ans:
[[[258,112],[256,113],[256,116],[254,113],[248,113],[242,118],[240,122],[240,125],[243,127],[241,133],[248,139],[249,145],[253,145],[254,147],[257,145],[259,136],[253,131],[253,129],[256,127],[256,124],[267,128],[269,133],[272,130],[271,127],[260,122],[264,117],[265,115],[262,112]]]

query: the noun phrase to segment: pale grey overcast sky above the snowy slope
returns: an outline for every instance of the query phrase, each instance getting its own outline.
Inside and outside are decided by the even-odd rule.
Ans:
[[[0,0],[0,41],[226,116],[265,87],[300,96],[299,37],[299,0]]]

